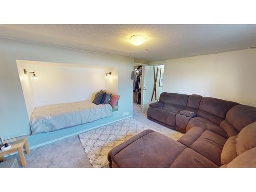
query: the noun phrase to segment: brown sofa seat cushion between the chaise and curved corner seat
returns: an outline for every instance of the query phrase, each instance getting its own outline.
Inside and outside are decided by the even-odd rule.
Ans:
[[[178,141],[221,166],[221,152],[226,142],[223,137],[203,131],[202,127],[192,127]]]

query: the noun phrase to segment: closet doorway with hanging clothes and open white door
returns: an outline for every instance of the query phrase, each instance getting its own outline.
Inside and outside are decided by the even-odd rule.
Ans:
[[[150,101],[148,82],[150,79],[150,67],[146,64],[135,63],[134,72],[137,79],[134,80],[133,87],[133,102],[139,105],[142,112],[147,110],[148,102]]]

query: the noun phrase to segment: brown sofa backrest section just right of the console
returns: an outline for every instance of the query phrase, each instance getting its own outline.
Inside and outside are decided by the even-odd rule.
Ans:
[[[239,103],[232,101],[212,97],[203,97],[201,99],[197,115],[216,124],[220,124],[223,119],[225,119],[228,110],[238,104]]]

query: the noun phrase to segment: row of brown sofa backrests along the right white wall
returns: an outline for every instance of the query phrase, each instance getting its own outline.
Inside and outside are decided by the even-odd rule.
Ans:
[[[201,95],[166,93],[159,100],[166,104],[178,104],[199,109],[197,115],[218,124],[229,137],[238,133],[248,124],[256,121],[256,108],[237,102],[226,101]]]

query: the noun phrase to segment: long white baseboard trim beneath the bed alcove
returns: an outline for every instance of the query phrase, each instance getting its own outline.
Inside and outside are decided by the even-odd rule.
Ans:
[[[59,140],[62,140],[62,139],[66,139],[68,137],[72,137],[74,135],[78,135],[78,134],[84,133],[84,132],[88,132],[88,131],[94,130],[94,129],[98,128],[98,127],[105,126],[105,125],[108,125],[108,124],[111,124],[111,123],[114,123],[114,122],[117,122],[117,121],[120,121],[120,120],[123,120],[123,119],[127,119],[127,118],[130,118],[130,117],[133,117],[133,115],[130,115],[130,116],[127,116],[127,117],[123,117],[123,118],[117,119],[115,121],[110,121],[108,123],[104,123],[104,124],[100,124],[100,125],[97,125],[97,126],[93,126],[93,127],[90,127],[89,129],[86,129],[86,130],[83,130],[83,131],[79,131],[79,132],[75,132],[75,133],[72,133],[72,134],[69,134],[69,135],[57,138],[57,139],[53,139],[51,141],[40,143],[38,145],[31,146],[30,149],[37,148],[37,147],[40,147],[40,146],[44,146],[44,145],[47,145],[47,144],[50,144],[50,143],[53,143],[53,142],[56,142],[56,141],[59,141]]]

